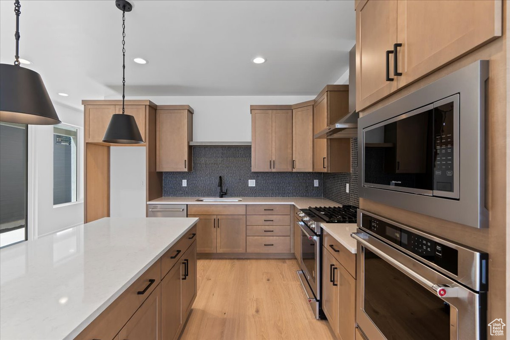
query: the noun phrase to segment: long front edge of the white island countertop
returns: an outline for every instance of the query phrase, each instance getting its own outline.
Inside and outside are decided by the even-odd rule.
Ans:
[[[191,217],[190,217],[191,218]],[[131,284],[133,284],[140,276],[142,276],[143,273],[147,269],[150,268],[150,266],[154,265],[156,261],[163,256],[165,252],[168,251],[177,241],[179,241],[186,232],[188,232],[195,224],[198,222],[198,218],[194,218],[195,221],[189,225],[184,231],[179,235],[179,237],[176,237],[168,246],[166,246],[156,257],[152,258],[147,265],[145,265],[141,270],[139,270],[131,279],[129,279],[126,283],[124,283],[117,292],[115,292],[107,301],[105,301],[103,304],[101,304],[96,310],[94,310],[90,316],[88,316],[84,321],[82,321],[77,327],[75,327],[69,334],[67,334],[64,339],[74,339],[77,337],[85,328],[87,328],[88,325],[92,323],[103,311],[105,311],[108,306],[112,304],[113,301],[115,301],[122,293],[125,292],[127,288]]]

